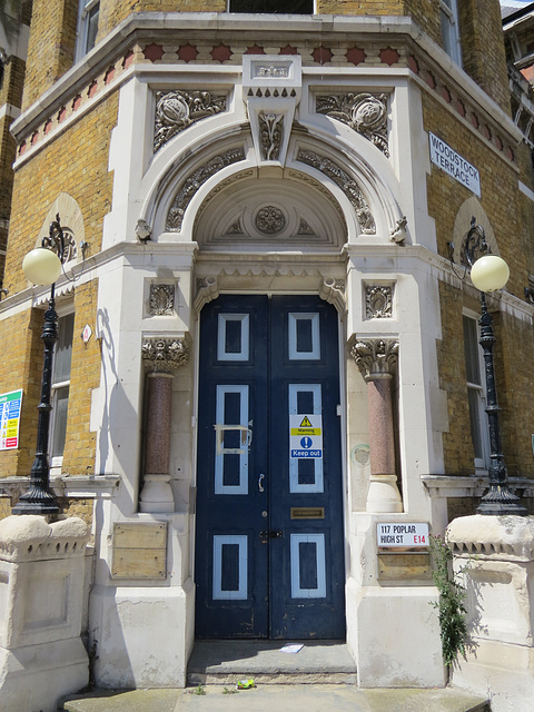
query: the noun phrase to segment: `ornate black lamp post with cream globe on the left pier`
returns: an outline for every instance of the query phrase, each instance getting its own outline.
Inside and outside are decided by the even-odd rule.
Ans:
[[[36,285],[51,285],[50,303],[44,313],[41,338],[44,343],[42,366],[41,402],[38,407],[37,451],[30,475],[30,488],[12,510],[12,514],[57,514],[56,496],[50,492],[50,464],[48,439],[50,431],[50,392],[52,380],[53,346],[58,340],[58,315],[56,314],[55,286],[61,274],[65,256],[63,230],[59,215],[50,224],[50,234],[42,238],[42,247],[29,253],[22,260],[26,277]]]

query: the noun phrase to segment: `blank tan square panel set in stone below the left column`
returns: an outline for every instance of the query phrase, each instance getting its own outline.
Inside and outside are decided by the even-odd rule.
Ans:
[[[112,578],[166,578],[167,522],[116,522],[112,553]]]

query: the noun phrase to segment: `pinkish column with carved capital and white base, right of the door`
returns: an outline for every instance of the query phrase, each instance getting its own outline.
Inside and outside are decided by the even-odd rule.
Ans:
[[[402,512],[403,502],[395,472],[392,378],[397,363],[398,340],[356,339],[352,349],[367,383],[369,405],[370,484],[367,512]]]

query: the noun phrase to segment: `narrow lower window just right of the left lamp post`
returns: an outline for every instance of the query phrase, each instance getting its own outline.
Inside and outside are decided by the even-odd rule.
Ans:
[[[59,338],[55,348],[51,384],[52,413],[49,448],[52,467],[60,466],[63,457],[65,436],[67,434],[67,411],[69,407],[73,330],[73,313],[60,316],[58,319]]]

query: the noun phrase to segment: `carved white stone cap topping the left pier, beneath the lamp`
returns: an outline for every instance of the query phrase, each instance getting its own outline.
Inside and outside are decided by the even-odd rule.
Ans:
[[[44,515],[11,515],[0,521],[0,560],[37,561],[83,555],[89,525],[79,517],[49,523]]]

